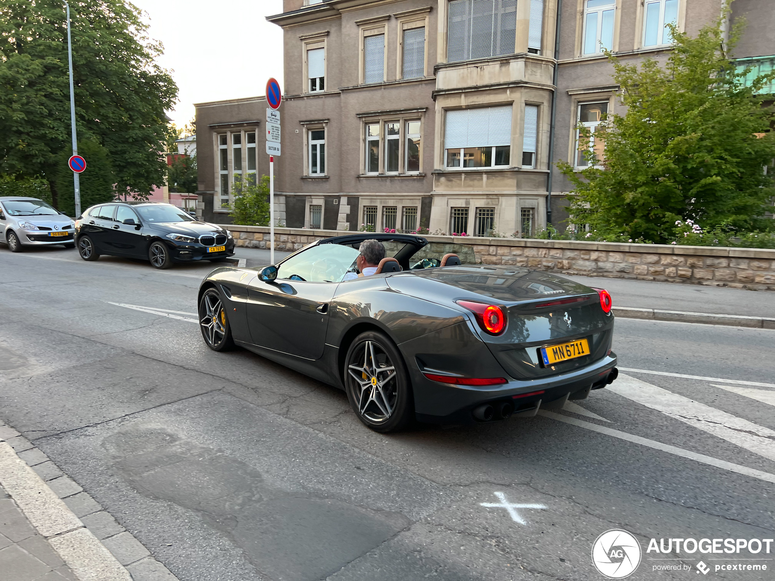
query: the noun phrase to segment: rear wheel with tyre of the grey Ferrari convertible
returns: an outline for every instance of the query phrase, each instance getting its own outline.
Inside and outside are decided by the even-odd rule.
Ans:
[[[404,359],[381,332],[361,333],[347,350],[347,399],[374,431],[398,431],[412,421],[414,401]]]

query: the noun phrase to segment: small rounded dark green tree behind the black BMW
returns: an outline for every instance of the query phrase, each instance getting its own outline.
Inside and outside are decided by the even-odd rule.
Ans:
[[[81,187],[81,210],[89,206],[102,204],[115,198],[113,184],[113,168],[110,156],[105,147],[89,139],[78,141],[78,154],[84,156],[86,170],[81,173],[78,183]],[[71,150],[60,153],[57,163],[57,174],[54,178],[59,192],[59,210],[68,216],[75,216],[75,185],[73,172],[67,167],[67,160],[72,155]]]

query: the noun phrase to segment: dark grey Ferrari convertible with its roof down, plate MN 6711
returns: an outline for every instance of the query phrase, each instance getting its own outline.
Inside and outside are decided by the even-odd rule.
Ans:
[[[358,276],[367,239],[385,257]],[[607,291],[474,262],[469,245],[417,235],[319,240],[277,265],[213,270],[198,295],[202,335],[346,390],[383,432],[532,416],[615,380]]]

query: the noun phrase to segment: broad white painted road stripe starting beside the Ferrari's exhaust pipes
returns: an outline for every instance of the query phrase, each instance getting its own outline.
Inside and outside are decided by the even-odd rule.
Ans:
[[[651,383],[636,380],[620,373],[608,390],[627,397],[639,404],[661,411],[669,418],[683,421],[708,434],[739,445],[750,452],[775,460],[775,431],[753,421],[701,404],[688,397],[673,394],[672,391],[656,387]]]

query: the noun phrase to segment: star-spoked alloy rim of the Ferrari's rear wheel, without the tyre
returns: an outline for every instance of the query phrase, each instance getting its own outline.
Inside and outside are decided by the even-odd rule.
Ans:
[[[375,424],[391,418],[398,397],[394,363],[375,341],[364,341],[351,352],[347,373],[355,380],[353,395],[360,414]]]

